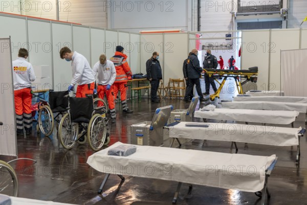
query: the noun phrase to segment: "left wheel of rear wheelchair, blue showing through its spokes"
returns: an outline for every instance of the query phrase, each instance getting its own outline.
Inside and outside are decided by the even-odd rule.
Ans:
[[[41,132],[47,136],[51,135],[54,127],[53,114],[49,106],[40,107],[38,113],[38,125]]]

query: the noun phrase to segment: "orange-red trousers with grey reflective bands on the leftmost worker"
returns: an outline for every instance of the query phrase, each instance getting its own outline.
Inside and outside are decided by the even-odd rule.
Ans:
[[[14,90],[14,100],[17,132],[23,131],[24,124],[26,130],[32,130],[31,88]]]

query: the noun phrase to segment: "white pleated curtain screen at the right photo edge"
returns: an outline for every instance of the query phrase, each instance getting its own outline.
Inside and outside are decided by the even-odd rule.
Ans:
[[[307,49],[280,51],[281,90],[285,96],[307,96]]]

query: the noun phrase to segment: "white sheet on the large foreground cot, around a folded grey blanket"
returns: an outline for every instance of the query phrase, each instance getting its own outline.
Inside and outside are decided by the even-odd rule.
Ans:
[[[137,146],[127,157],[108,156],[111,147],[94,153],[87,163],[109,174],[164,179],[246,192],[262,190],[272,156],[229,154],[166,147]]]

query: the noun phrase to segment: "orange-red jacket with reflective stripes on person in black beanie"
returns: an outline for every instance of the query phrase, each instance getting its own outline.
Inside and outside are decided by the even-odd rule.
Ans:
[[[128,76],[132,76],[131,69],[127,62],[127,55],[116,51],[110,58],[116,69],[116,78],[114,83],[123,83],[128,81]]]

